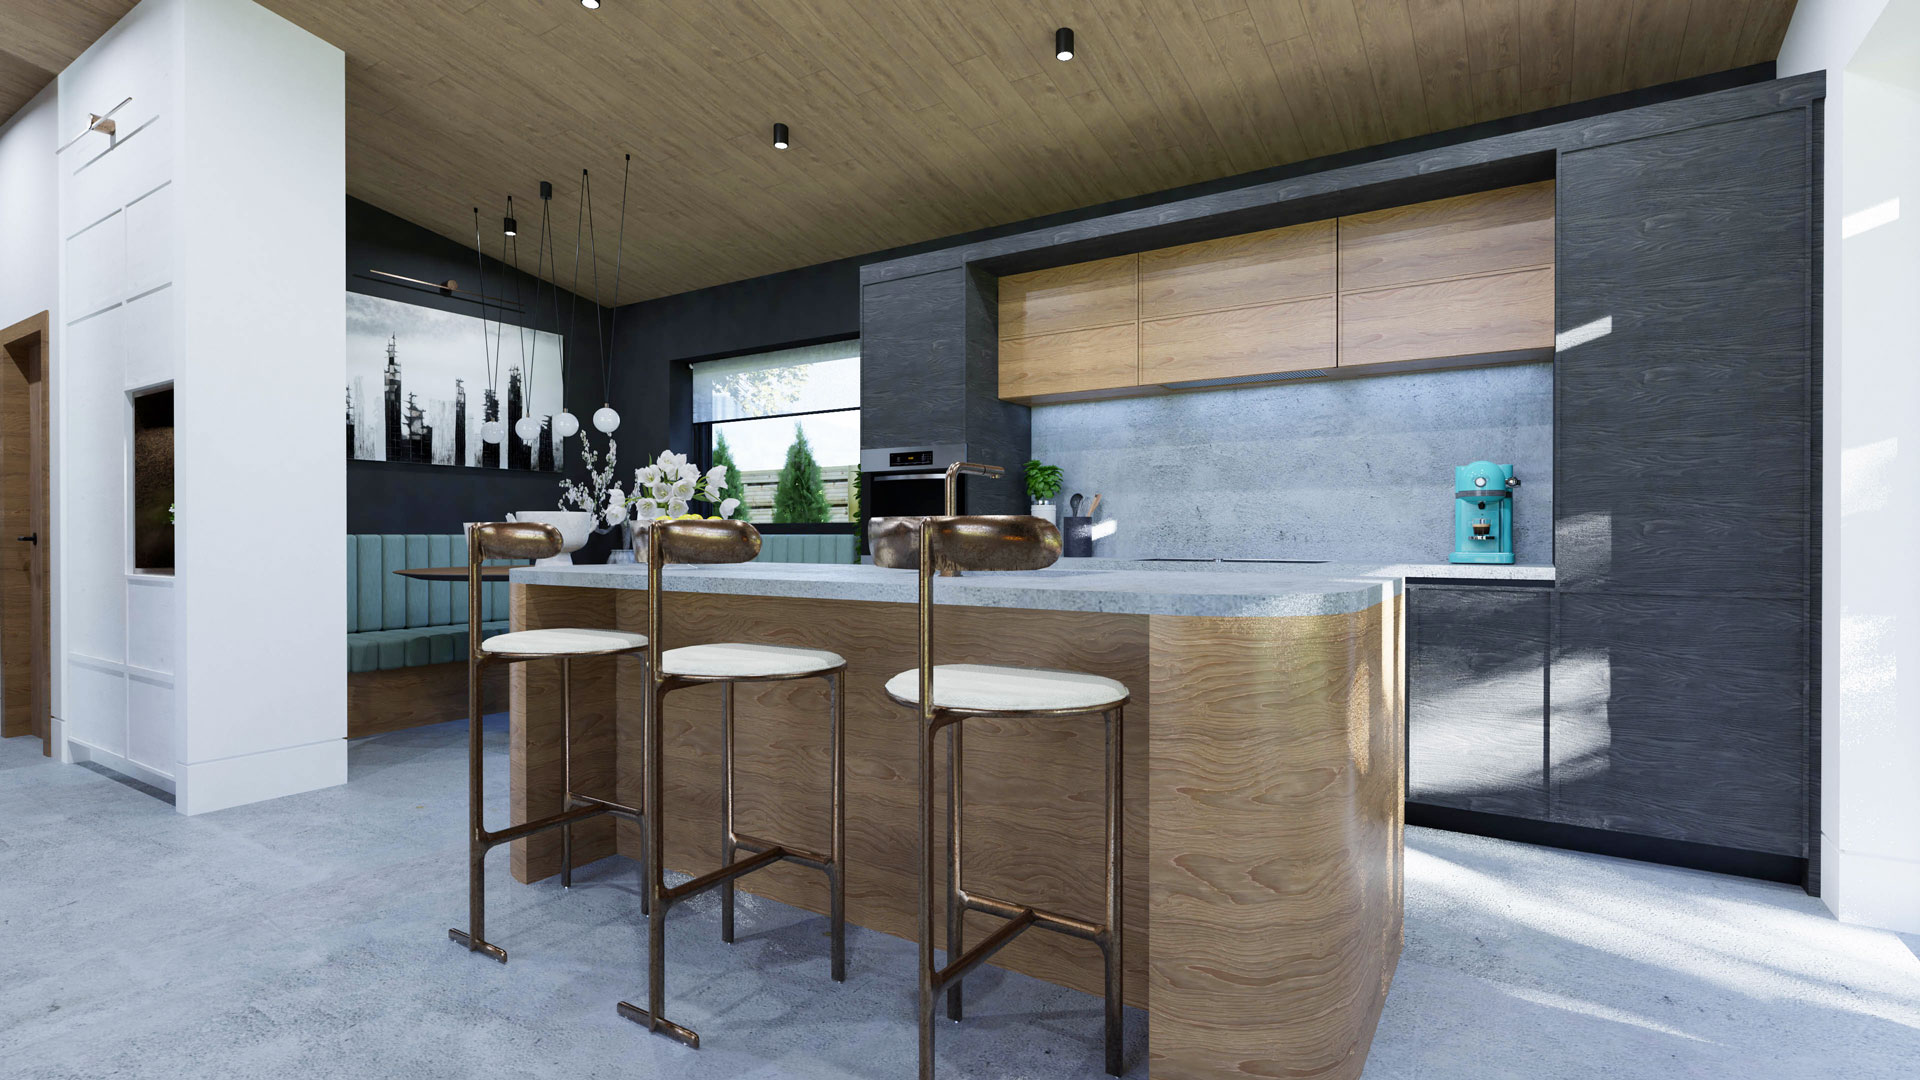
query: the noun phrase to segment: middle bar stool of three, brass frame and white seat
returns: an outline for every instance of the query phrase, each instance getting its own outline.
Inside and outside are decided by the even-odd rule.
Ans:
[[[733,940],[733,878],[780,861],[824,871],[828,876],[828,919],[831,926],[831,976],[847,980],[847,878],[843,851],[847,847],[847,749],[841,730],[847,721],[843,680],[847,661],[826,650],[760,644],[682,646],[660,651],[660,625],[666,596],[660,575],[668,563],[745,563],[760,553],[760,532],[745,521],[655,521],[647,527],[647,669],[651,692],[645,711],[645,776],[647,807],[647,1007],[620,1001],[620,1015],[647,1030],[662,1034],[691,1049],[701,1047],[699,1032],[666,1019],[666,913],[680,901],[720,886],[720,940]],[[737,682],[785,682],[793,678],[824,678],[831,700],[828,734],[829,757],[829,851],[806,851],[791,844],[776,844],[733,830],[733,686]],[[720,684],[720,869],[689,882],[666,888],[666,817],[660,809],[664,786],[664,705],[666,696],[687,686]],[[733,855],[747,851],[747,859]]]

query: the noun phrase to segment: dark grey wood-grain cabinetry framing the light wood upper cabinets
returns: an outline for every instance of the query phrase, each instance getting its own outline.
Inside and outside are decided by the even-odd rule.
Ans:
[[[1409,786],[1818,888],[1805,75],[1325,163],[860,271],[866,446],[993,429],[996,275],[1557,177],[1557,588],[1409,596]],[[1002,427],[998,448],[1023,438]],[[1014,461],[1025,457],[1012,448]],[[1421,801],[1425,799],[1425,801]]]

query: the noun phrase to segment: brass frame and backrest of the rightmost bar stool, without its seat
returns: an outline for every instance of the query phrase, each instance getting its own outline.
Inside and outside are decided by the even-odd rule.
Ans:
[[[1125,1009],[1125,705],[1106,709],[939,709],[933,705],[933,578],[947,567],[968,571],[1031,571],[1060,557],[1060,530],[1039,517],[877,519],[872,525],[874,561],[920,571],[920,1080],[933,1080],[933,1011],[947,992],[947,1017],[960,1020],[962,978],[1029,928],[1092,942],[1106,965],[1106,1070],[1125,1072],[1121,1024]],[[1091,717],[1106,724],[1106,913],[1102,922],[1044,911],[985,894],[966,892],[960,878],[962,721],[970,717],[1044,719]],[[947,967],[933,965],[933,761],[935,738],[947,730]],[[964,949],[968,911],[1004,919],[972,949]]]

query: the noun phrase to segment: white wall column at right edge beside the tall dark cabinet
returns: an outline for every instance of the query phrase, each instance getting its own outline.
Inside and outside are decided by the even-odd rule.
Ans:
[[[1920,0],[1801,0],[1826,71],[1820,892],[1920,932]]]

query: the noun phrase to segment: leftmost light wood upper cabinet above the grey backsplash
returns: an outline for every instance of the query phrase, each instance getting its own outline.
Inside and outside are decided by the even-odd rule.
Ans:
[[[1139,384],[1139,256],[1000,279],[1000,398]]]

